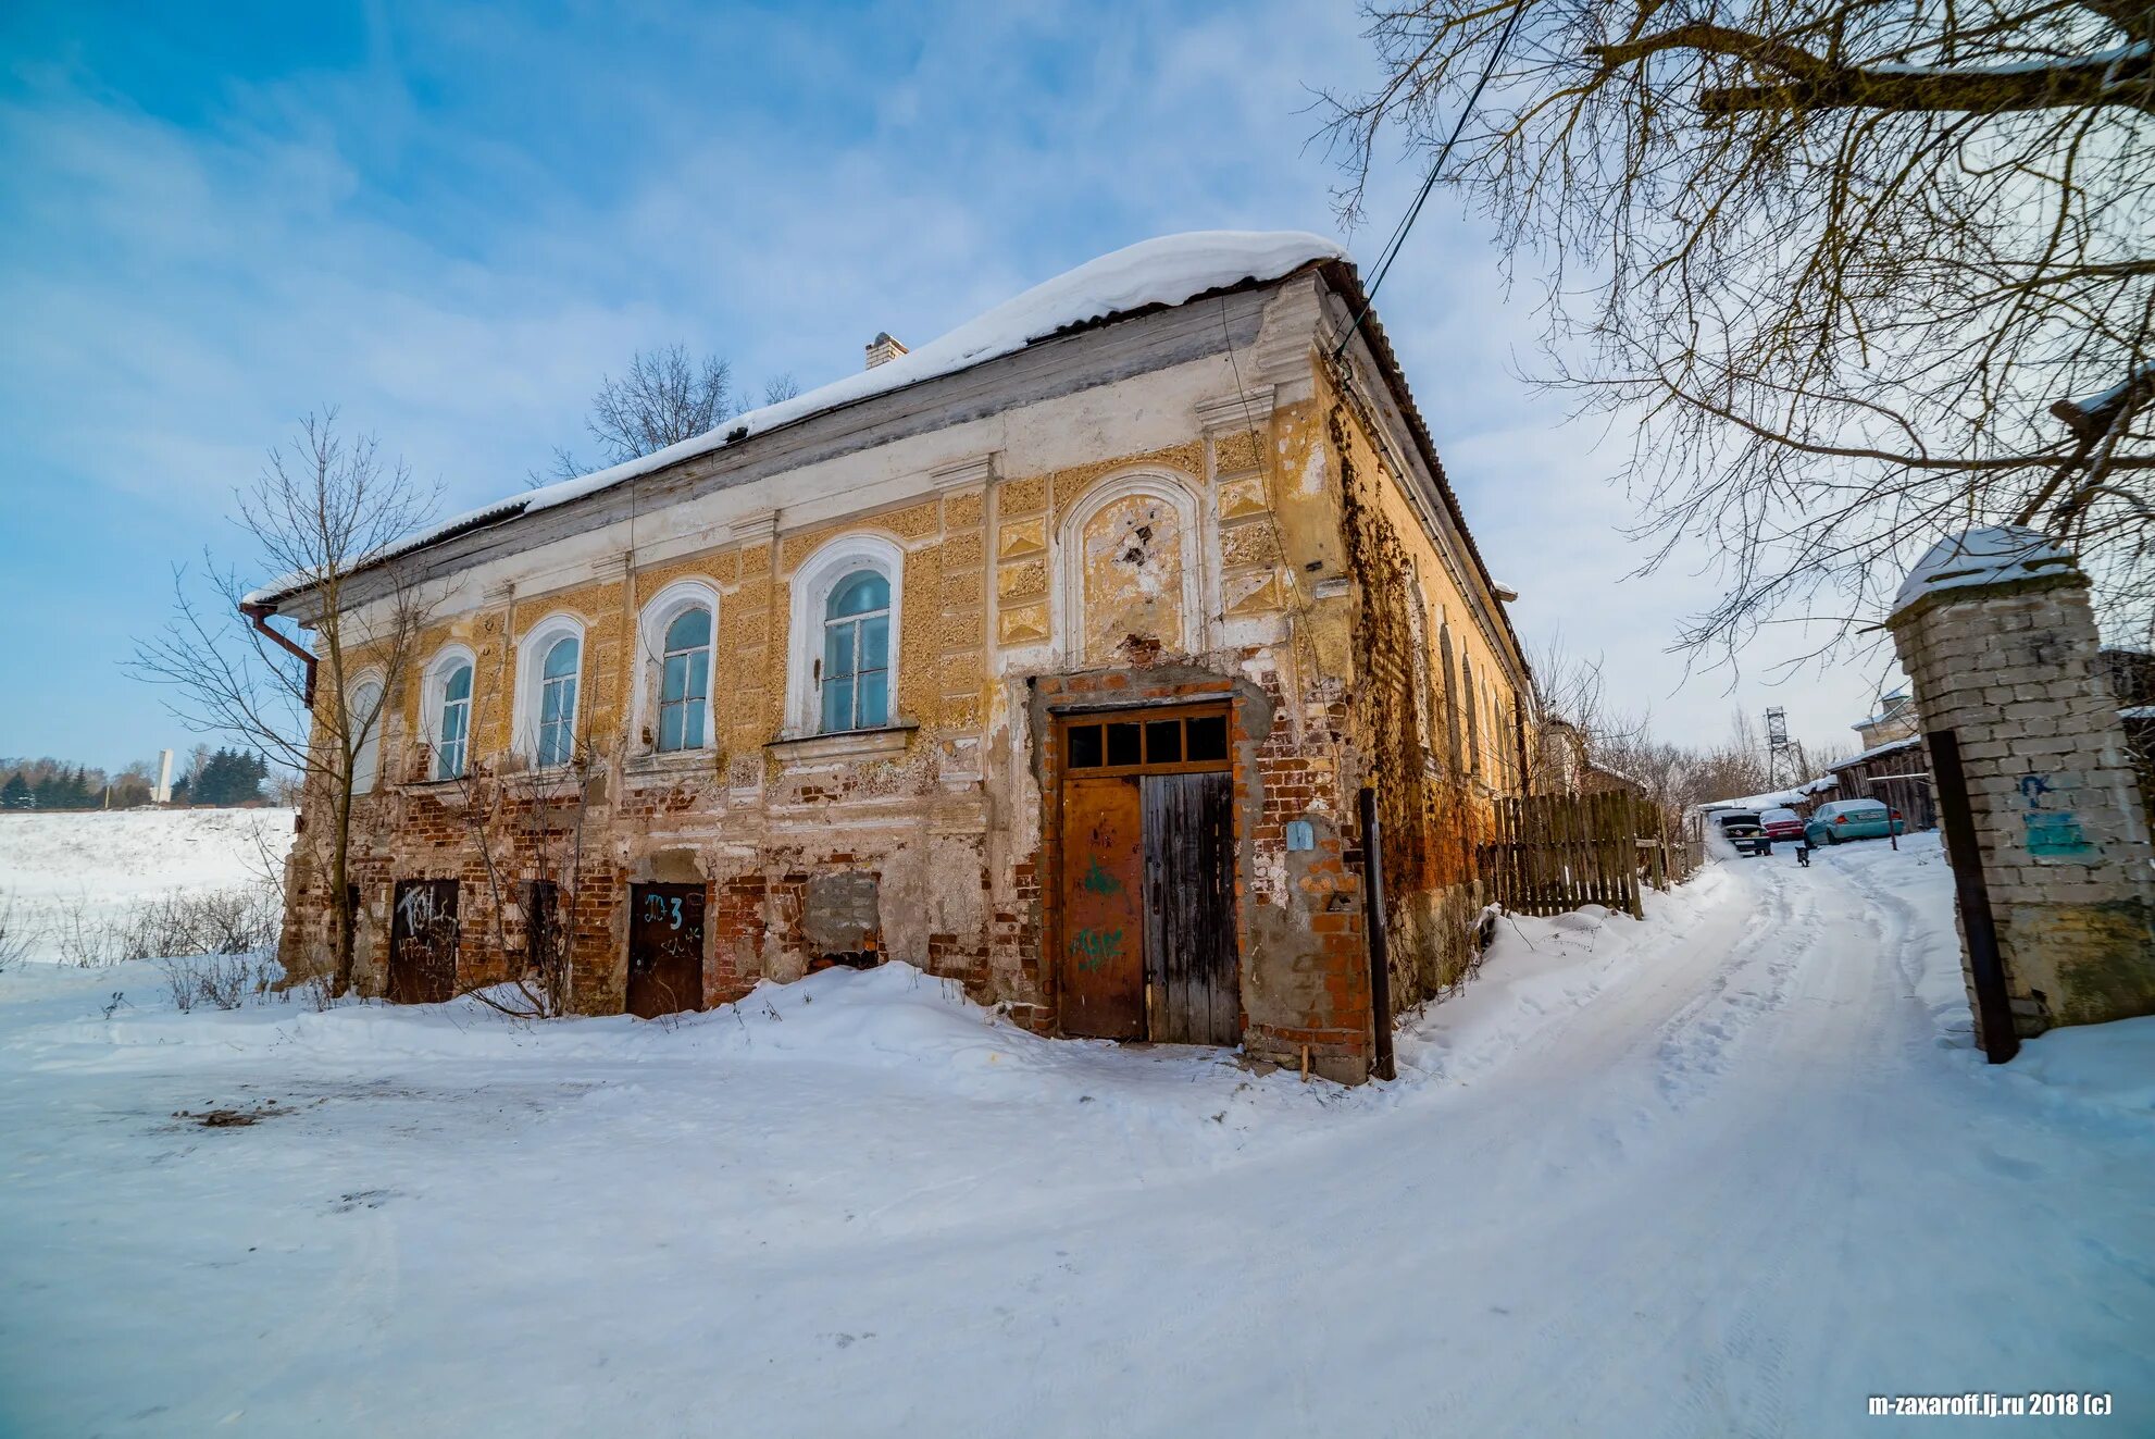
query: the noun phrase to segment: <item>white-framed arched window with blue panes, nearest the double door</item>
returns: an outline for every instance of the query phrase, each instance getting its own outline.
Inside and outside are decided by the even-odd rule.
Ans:
[[[793,571],[787,722],[795,735],[892,724],[905,551],[875,534],[836,539]]]

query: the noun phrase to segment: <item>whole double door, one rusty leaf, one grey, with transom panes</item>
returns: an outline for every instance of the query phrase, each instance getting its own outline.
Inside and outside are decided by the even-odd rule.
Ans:
[[[1069,715],[1056,743],[1062,1032],[1237,1043],[1226,709]]]

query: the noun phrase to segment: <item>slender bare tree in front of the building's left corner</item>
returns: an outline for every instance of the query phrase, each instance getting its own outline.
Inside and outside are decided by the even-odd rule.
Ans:
[[[235,491],[235,523],[269,577],[250,588],[205,556],[205,577],[175,571],[175,612],[136,644],[129,668],[172,689],[194,730],[226,735],[302,776],[306,842],[323,851],[336,993],[351,987],[349,900],[353,780],[379,752],[388,704],[407,679],[427,607],[394,569],[356,582],[366,562],[412,534],[433,508],[401,461],[371,435],[347,437],[336,411],[308,416],[289,448]],[[207,584],[207,595],[203,592]],[[312,644],[269,618],[297,610]]]

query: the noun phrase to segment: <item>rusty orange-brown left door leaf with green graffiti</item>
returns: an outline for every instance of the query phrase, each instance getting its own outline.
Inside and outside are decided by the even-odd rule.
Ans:
[[[1062,1032],[1144,1038],[1144,866],[1138,780],[1062,786]]]

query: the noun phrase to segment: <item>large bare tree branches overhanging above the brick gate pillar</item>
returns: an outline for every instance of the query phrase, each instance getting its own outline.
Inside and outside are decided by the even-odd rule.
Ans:
[[[1636,416],[1655,564],[1702,541],[1733,653],[1838,642],[1939,532],[2071,543],[2155,614],[2146,0],[1377,0],[1327,97],[1353,215],[1384,136],[1549,267],[1549,379]],[[1487,75],[1487,90],[1478,82]],[[2080,396],[2080,399],[2075,399]]]

